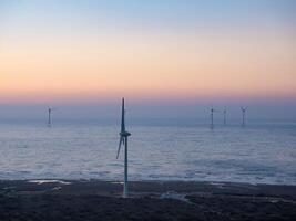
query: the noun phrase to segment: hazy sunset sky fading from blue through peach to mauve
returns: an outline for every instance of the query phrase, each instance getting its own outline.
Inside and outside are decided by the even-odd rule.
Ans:
[[[296,117],[295,27],[295,0],[0,0],[0,116],[124,96],[137,115]]]

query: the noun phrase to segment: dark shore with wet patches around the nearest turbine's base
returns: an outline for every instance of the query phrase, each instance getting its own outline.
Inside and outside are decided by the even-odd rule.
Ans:
[[[1,180],[0,220],[296,220],[296,186]]]

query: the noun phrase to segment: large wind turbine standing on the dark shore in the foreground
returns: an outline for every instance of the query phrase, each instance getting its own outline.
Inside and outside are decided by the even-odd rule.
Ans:
[[[121,131],[120,131],[120,144],[116,159],[120,155],[121,145],[124,145],[124,186],[123,186],[123,198],[129,197],[127,188],[127,137],[131,136],[129,131],[125,130],[125,109],[124,109],[124,98],[122,98],[122,109],[121,109]]]

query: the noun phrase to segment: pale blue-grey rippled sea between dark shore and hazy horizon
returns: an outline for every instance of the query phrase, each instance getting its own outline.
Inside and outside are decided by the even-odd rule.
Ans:
[[[106,122],[0,124],[0,179],[123,178],[119,125]],[[195,119],[127,123],[131,180],[296,185],[296,124],[216,126]]]

